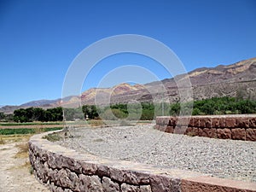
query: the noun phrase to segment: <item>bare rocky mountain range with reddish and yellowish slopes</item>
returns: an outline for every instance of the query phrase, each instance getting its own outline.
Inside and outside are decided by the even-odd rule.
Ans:
[[[125,102],[177,102],[180,99],[177,84],[183,79],[190,79],[195,100],[212,96],[239,96],[256,100],[256,58],[239,61],[231,65],[202,67],[178,75],[173,79],[164,79],[149,84],[118,84],[112,88],[92,88],[81,96],[68,96],[64,99],[40,100],[28,102],[21,106],[5,106],[0,109],[11,113],[16,108],[40,107],[67,108],[81,104],[125,103]],[[162,93],[163,86],[165,93]]]

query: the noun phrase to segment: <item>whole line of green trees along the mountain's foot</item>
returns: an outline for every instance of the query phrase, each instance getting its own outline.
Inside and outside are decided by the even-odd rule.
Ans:
[[[237,99],[235,97],[213,97],[195,102],[183,103],[184,111],[193,107],[192,115],[256,113],[256,101]],[[80,108],[20,108],[15,110],[15,122],[61,121],[73,119],[141,119],[152,120],[160,115],[179,115],[181,103],[135,103],[113,104],[107,107],[84,105]],[[4,114],[0,113],[0,119]]]

